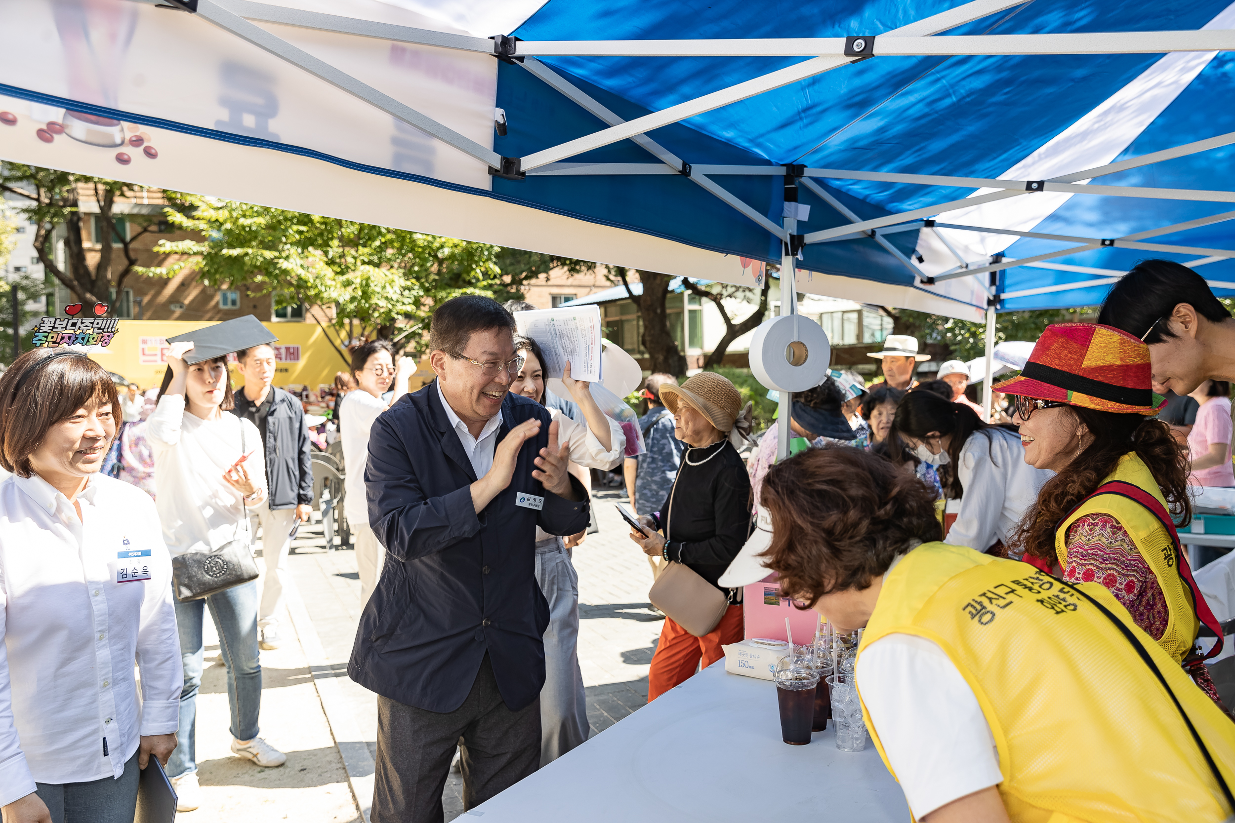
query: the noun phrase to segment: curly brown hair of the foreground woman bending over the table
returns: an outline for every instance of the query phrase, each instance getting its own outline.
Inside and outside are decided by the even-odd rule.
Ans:
[[[866,589],[913,540],[944,538],[935,490],[851,445],[808,449],[772,466],[760,505],[772,517],[763,552],[781,591],[814,606]]]

